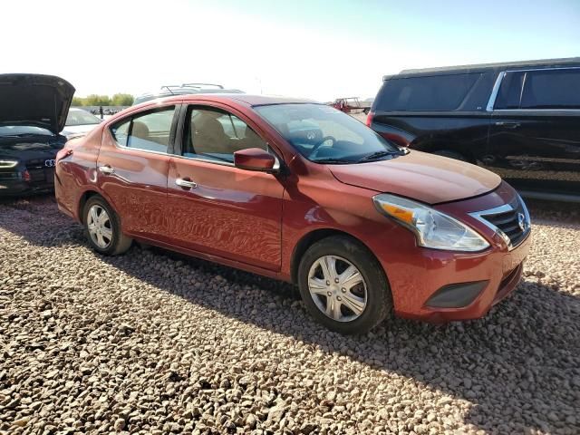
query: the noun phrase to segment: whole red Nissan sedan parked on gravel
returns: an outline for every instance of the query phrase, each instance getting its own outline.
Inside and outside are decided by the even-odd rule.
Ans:
[[[530,244],[527,208],[498,175],[285,98],[131,107],[67,142],[55,191],[101,254],[138,240],[293,282],[340,333],[391,311],[480,317],[516,287]]]

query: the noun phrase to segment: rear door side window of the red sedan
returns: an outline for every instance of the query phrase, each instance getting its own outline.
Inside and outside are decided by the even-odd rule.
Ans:
[[[117,143],[136,150],[168,152],[175,107],[150,111],[122,120],[111,127]]]

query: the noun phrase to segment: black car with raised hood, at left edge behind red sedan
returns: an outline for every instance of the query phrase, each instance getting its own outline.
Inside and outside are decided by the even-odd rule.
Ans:
[[[0,197],[53,190],[73,93],[52,75],[0,74]]]

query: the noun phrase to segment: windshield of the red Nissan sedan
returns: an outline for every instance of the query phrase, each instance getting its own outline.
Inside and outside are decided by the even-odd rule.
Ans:
[[[402,152],[353,117],[323,104],[275,104],[255,110],[306,159],[359,163]]]

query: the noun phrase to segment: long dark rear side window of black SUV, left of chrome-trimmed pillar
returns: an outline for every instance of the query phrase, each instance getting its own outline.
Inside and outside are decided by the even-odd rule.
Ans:
[[[376,110],[455,111],[480,76],[477,73],[393,78],[382,85]]]

